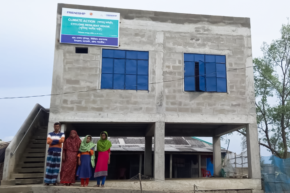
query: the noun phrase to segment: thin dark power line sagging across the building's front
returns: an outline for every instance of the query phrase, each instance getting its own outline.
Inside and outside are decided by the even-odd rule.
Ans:
[[[285,60],[281,60],[281,61],[277,61],[277,62],[283,62],[283,61],[285,61]],[[268,64],[277,63],[277,62],[271,62],[271,63],[268,63]],[[261,65],[268,65],[268,64],[261,64]],[[242,69],[251,68],[251,67],[257,67],[257,66],[235,68],[235,69],[227,70],[225,72],[233,71],[233,70],[242,70]],[[222,71],[222,72],[224,72],[224,71]],[[216,73],[218,73],[218,72],[213,72],[213,73],[209,73],[209,74],[216,74]],[[206,76],[206,75],[209,75],[209,74],[203,74],[203,75],[198,75],[198,76]],[[198,76],[190,76],[190,77],[187,77],[187,78],[198,77]],[[143,84],[143,85],[130,85],[130,86],[153,85],[153,84],[159,84],[159,83],[164,83],[164,82],[173,82],[173,81],[183,80],[183,79],[185,79],[185,78],[179,78],[179,79],[176,79],[176,80],[166,80],[166,81],[161,81],[161,82],[153,82],[153,83],[148,83],[148,84]],[[118,88],[123,88],[123,87],[124,86],[119,86],[119,87],[113,87],[113,88],[110,88],[110,89],[118,89]],[[56,96],[56,95],[61,95],[61,94],[74,94],[74,93],[90,92],[90,91],[95,91],[95,90],[104,90],[104,89],[92,89],[92,90],[83,90],[83,91],[75,91],[75,92],[67,92],[67,93],[59,93],[59,94],[44,94],[44,95],[24,96],[24,97],[4,97],[4,98],[0,98],[0,99],[19,99],[19,98],[43,97],[43,96]]]

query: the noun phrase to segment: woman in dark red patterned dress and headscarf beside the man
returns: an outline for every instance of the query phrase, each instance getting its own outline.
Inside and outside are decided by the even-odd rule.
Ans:
[[[77,154],[82,141],[77,131],[71,131],[63,143],[63,159],[60,171],[60,183],[63,186],[73,186],[76,182]]]

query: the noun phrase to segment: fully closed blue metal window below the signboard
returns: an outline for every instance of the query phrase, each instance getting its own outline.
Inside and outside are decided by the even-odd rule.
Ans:
[[[148,90],[146,51],[103,49],[101,89]]]

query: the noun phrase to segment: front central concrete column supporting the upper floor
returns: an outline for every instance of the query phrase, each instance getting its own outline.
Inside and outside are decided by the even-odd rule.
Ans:
[[[154,128],[154,181],[165,178],[164,155],[165,122],[156,122]]]

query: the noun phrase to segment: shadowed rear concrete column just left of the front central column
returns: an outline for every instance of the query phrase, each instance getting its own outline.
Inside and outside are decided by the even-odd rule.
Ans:
[[[152,177],[152,136],[145,137],[144,175]]]

